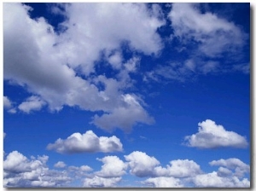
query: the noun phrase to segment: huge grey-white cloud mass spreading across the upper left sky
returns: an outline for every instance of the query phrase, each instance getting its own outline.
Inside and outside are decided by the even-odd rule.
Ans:
[[[67,20],[60,28],[67,30],[56,33],[44,18],[32,20],[30,7],[21,3],[3,4],[4,79],[38,97],[21,103],[20,110],[29,113],[39,110],[45,103],[52,111],[59,111],[63,106],[103,111],[93,123],[104,130],[116,127],[131,130],[137,122],[150,124],[152,119],[142,105],[135,106],[124,99],[127,95],[123,90],[130,79],[128,72],[136,71],[138,60],[123,61],[119,49],[122,43],[128,42],[131,49],[144,54],[160,51],[162,43],[156,31],[165,24],[160,19],[160,7],[153,4],[148,8],[143,3],[72,3],[61,9],[66,10],[61,14]],[[107,54],[108,61],[117,69],[123,68],[120,73],[125,70],[126,81],[104,78],[104,84],[114,81],[112,91],[107,87],[99,90],[94,83],[99,75],[90,76],[96,72],[96,61],[102,51],[106,54],[116,51],[113,55]],[[78,68],[81,71],[77,72]],[[84,78],[79,76],[81,72]],[[137,114],[127,115],[134,113],[133,109]],[[124,121],[112,125],[113,118],[113,121]]]

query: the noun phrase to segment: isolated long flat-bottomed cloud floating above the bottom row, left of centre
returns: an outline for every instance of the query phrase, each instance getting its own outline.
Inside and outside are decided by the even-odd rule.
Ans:
[[[92,130],[84,134],[73,133],[67,139],[59,138],[55,143],[49,143],[49,150],[57,153],[95,153],[95,152],[117,152],[123,150],[123,145],[116,136],[96,136]]]

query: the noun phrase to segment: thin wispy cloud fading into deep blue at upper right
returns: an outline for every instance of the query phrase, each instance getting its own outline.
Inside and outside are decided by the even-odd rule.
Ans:
[[[215,57],[244,44],[245,34],[238,26],[217,14],[202,14],[197,3],[173,3],[169,18],[175,36],[184,43],[199,43],[198,55]]]

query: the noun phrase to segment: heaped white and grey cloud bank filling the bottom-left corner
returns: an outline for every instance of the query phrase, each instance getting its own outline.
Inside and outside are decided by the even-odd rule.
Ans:
[[[3,186],[58,187],[65,186],[72,178],[64,171],[52,171],[46,166],[48,156],[27,159],[22,153],[13,151],[3,160]]]

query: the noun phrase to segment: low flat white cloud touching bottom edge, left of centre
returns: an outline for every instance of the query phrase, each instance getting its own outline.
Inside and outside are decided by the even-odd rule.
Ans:
[[[116,184],[121,181],[121,177],[88,177],[84,179],[84,187],[90,188],[108,188],[108,187],[116,187]]]

